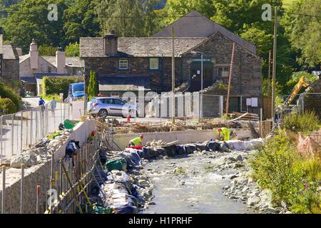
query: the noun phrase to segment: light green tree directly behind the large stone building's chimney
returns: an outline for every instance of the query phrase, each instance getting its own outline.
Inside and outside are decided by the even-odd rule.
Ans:
[[[156,0],[107,0],[96,6],[102,35],[112,30],[118,36],[150,36]]]

